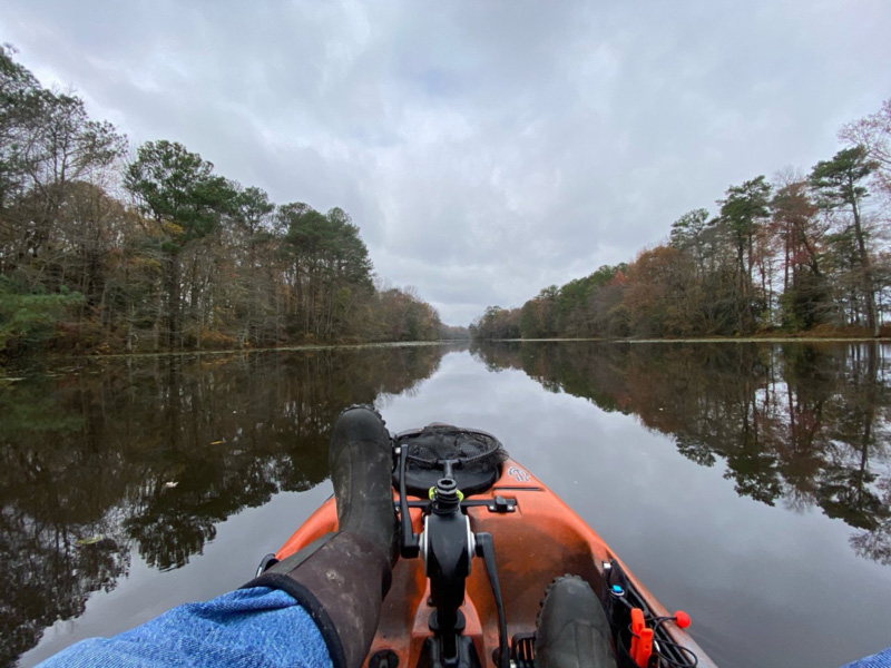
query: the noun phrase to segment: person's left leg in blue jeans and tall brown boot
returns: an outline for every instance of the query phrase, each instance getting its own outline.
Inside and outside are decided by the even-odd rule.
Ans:
[[[361,667],[396,558],[390,434],[380,416],[366,407],[341,414],[330,459],[340,531],[241,590],[84,640],[41,666]]]

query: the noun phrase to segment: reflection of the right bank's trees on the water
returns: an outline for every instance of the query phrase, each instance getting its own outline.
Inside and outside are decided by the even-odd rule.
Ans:
[[[851,344],[509,343],[488,369],[634,413],[736,492],[819,507],[856,529],[855,552],[891,564],[891,348]]]

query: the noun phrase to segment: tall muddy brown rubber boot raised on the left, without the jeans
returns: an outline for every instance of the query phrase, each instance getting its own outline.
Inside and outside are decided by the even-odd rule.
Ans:
[[[390,434],[354,406],[334,425],[329,453],[339,530],[274,564],[245,587],[290,593],[313,617],[337,668],[360,668],[374,639],[398,558]]]

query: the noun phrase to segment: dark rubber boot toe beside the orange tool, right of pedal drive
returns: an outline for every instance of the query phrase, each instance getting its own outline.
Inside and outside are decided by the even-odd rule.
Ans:
[[[609,620],[585,580],[557,578],[541,603],[536,629],[540,668],[616,668]]]

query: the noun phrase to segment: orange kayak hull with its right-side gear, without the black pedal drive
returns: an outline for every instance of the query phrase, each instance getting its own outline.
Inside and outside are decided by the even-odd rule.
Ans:
[[[490,536],[486,540],[493,543],[492,566],[497,568],[495,573],[489,572],[483,559],[471,556],[462,599],[459,592],[458,633],[469,639],[466,642],[478,657],[473,665],[499,666],[500,647],[509,644],[515,667],[535,666],[532,638],[542,597],[555,577],[571,573],[585,579],[604,602],[614,627],[619,667],[714,666],[682,628],[688,625],[684,613],[676,616],[662,606],[572,509],[529,470],[506,453],[505,458],[495,468],[493,482],[461,495],[460,501],[460,513],[468,518],[472,534],[478,537],[477,556],[483,540],[479,537]],[[404,461],[402,466],[404,471]],[[460,485],[460,475],[456,478]],[[432,550],[428,546],[432,546],[428,536],[432,527],[429,531],[425,528],[427,518],[432,517],[431,498],[435,494],[432,488],[427,499],[417,491],[415,494],[408,491],[405,503],[401,504],[399,485],[394,487],[396,509],[408,507],[411,520],[410,527],[408,522],[403,524],[403,530],[420,541],[418,551],[427,559],[402,558],[395,564],[392,587],[383,601],[380,626],[365,664],[369,668],[430,665],[427,655],[434,628],[431,617],[435,616],[431,615],[432,576],[428,577],[431,557],[425,553]],[[331,498],[291,537],[276,558],[285,559],[336,530],[337,513]],[[500,597],[495,593],[493,577],[500,582]],[[498,605],[498,598],[502,599],[502,606]],[[635,608],[640,612],[633,613]],[[635,622],[637,626],[633,627]],[[647,641],[652,645],[648,655],[643,647]]]

